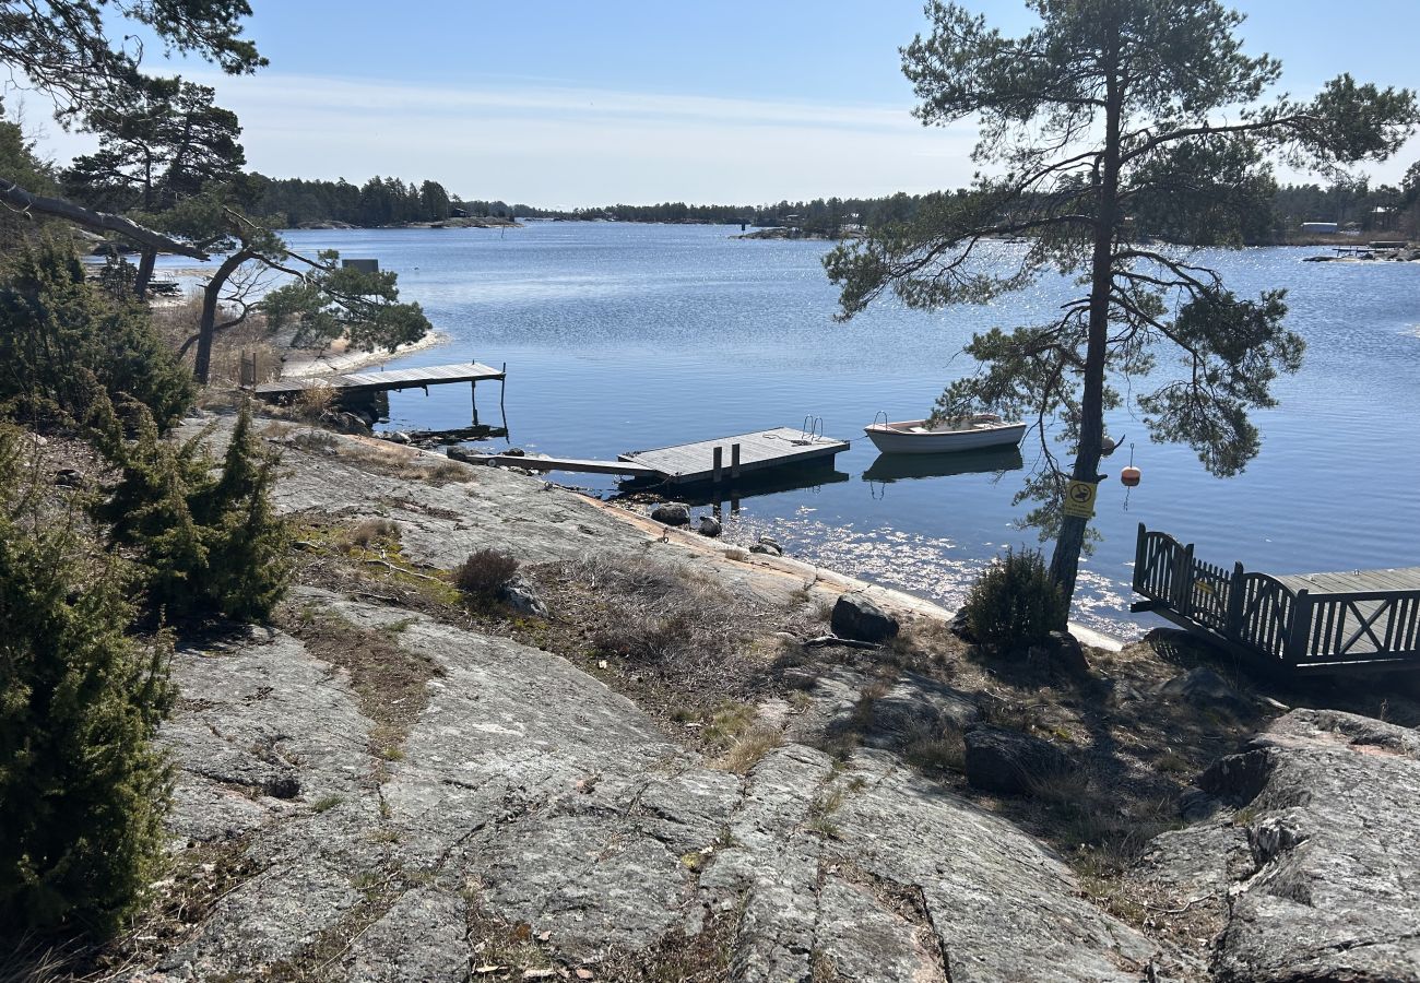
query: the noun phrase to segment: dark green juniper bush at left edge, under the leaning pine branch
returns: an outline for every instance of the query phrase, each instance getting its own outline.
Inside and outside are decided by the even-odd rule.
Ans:
[[[101,392],[136,399],[166,430],[196,386],[148,308],[89,287],[70,246],[18,250],[0,274],[0,403],[84,420]]]

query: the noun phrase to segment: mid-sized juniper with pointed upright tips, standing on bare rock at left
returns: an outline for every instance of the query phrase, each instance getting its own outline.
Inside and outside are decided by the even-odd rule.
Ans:
[[[207,435],[170,443],[142,405],[132,411],[131,442],[111,412],[95,416],[98,442],[122,470],[97,514],[109,523],[111,543],[136,555],[149,605],[169,617],[264,618],[290,581],[290,530],[271,507],[275,462],[251,432],[250,413],[237,418],[214,473]]]

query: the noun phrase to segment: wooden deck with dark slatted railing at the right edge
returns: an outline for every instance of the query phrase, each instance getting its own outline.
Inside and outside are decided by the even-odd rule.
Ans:
[[[1193,555],[1139,526],[1133,588],[1153,611],[1289,672],[1420,669],[1420,567],[1272,575]]]

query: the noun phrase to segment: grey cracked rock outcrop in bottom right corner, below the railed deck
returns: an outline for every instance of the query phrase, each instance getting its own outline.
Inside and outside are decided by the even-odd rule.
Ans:
[[[1420,979],[1420,734],[1292,710],[1204,784],[1242,804],[1252,861],[1218,979]]]

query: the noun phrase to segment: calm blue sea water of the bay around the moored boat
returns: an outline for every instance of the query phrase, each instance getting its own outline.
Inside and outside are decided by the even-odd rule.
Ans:
[[[1031,438],[1020,462],[973,459],[960,473],[914,474],[875,465],[862,426],[878,411],[926,415],[943,385],[971,369],[958,352],[973,331],[1047,317],[1066,284],[1051,278],[990,307],[936,314],[885,303],[835,324],[824,243],[731,239],[737,232],[530,223],[290,239],[399,271],[403,295],[450,338],[399,365],[507,362],[510,438],[528,450],[613,457],[821,416],[828,435],[853,442],[836,472],[743,499],[727,536],[768,533],[792,554],[956,605],[983,561],[1035,543],[1017,528],[1027,507],[1011,501],[1021,467],[1035,460]],[[1240,294],[1287,287],[1306,364],[1277,385],[1281,406],[1257,415],[1262,453],[1237,479],[1207,476],[1187,447],[1150,443],[1127,412],[1109,419],[1125,442],[1103,470],[1118,474],[1133,443],[1143,483],[1127,494],[1118,480],[1100,489],[1103,541],[1085,561],[1078,619],[1120,635],[1154,624],[1127,614],[1140,521],[1225,565],[1420,564],[1420,264],[1304,264],[1315,251],[1198,257]],[[480,411],[484,422],[497,413],[496,385],[481,389]],[[392,398],[393,428],[467,422],[466,386]]]

